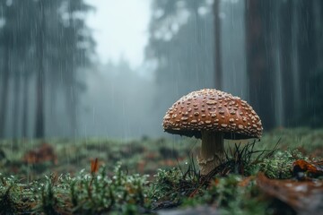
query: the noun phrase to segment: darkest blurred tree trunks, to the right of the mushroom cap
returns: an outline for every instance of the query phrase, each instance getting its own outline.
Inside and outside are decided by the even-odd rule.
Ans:
[[[267,127],[323,125],[323,1],[246,0],[250,102]]]

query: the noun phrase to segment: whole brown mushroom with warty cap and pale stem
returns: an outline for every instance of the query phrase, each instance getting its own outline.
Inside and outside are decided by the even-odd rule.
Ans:
[[[162,125],[167,133],[202,139],[197,155],[201,175],[223,161],[223,139],[260,138],[263,130],[259,116],[245,100],[214,89],[180,98],[169,108]]]

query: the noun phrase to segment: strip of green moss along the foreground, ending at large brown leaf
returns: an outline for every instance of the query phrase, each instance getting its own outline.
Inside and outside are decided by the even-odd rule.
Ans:
[[[240,187],[243,176],[215,177],[205,184],[183,176],[178,168],[160,169],[153,182],[128,175],[118,166],[113,176],[100,168],[95,176],[45,176],[30,184],[2,177],[1,214],[154,214],[159,209],[210,204],[230,214],[266,211],[252,182]],[[256,203],[257,202],[257,203]],[[256,214],[256,213],[252,213]]]

